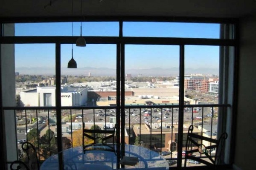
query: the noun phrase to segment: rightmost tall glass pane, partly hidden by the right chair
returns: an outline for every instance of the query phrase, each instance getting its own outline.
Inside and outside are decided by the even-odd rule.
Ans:
[[[193,133],[207,138],[216,139],[218,126],[218,107],[197,107],[196,105],[218,104],[220,47],[203,45],[185,46],[185,77],[184,77],[184,124],[183,150],[186,150],[186,139],[189,125],[194,126]],[[177,77],[178,79],[178,77]],[[186,105],[193,105],[186,107]],[[195,139],[205,147],[214,143]],[[195,147],[195,146],[192,146]],[[195,147],[194,149],[196,149]],[[213,150],[207,150],[211,153]],[[205,156],[203,152],[192,153],[193,156]],[[185,153],[183,153],[185,156]],[[213,155],[214,156],[214,155]],[[209,159],[204,158],[206,161]],[[186,166],[195,166],[193,161],[187,161]],[[203,165],[203,164],[198,164]]]

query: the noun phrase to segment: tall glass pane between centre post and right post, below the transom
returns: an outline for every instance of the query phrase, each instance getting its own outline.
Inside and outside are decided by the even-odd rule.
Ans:
[[[179,46],[125,45],[125,106],[142,107],[126,108],[123,113],[132,136],[129,144],[172,159],[177,158],[179,87],[173,81],[177,74]]]

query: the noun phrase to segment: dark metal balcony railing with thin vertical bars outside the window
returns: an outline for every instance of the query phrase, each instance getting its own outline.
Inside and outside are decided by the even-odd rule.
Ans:
[[[183,150],[189,125],[196,127],[195,133],[216,138],[218,113],[227,107],[230,105],[184,105]],[[82,122],[85,122],[86,128],[95,125],[106,130],[113,128],[118,121],[116,109],[107,106],[61,107],[62,149],[82,145]],[[3,110],[13,111],[16,117],[17,159],[23,159],[20,149],[23,141],[35,145],[40,162],[57,153],[59,125],[56,122],[56,107],[3,107]],[[125,143],[155,150],[167,160],[177,159],[179,113],[178,105],[125,106],[125,112],[120,113],[125,116]],[[203,157],[201,154],[195,156]]]

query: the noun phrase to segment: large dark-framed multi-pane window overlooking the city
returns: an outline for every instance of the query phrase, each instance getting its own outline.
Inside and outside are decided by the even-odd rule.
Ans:
[[[15,28],[1,44],[5,122],[16,125],[5,132],[17,148],[8,161],[23,139],[35,140],[40,161],[80,146],[82,123],[121,124],[121,142],[170,151],[177,167],[189,125],[213,139],[231,134],[235,43],[220,24],[83,22],[86,47],[75,45],[80,23],[73,36],[71,23],[5,26]],[[72,57],[77,68],[67,68]]]

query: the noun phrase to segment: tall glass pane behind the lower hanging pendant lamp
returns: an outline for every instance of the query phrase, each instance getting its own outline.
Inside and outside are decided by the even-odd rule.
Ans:
[[[82,145],[82,122],[85,128],[111,129],[116,123],[116,45],[73,45],[77,68],[67,68],[72,45],[61,45],[61,105],[93,106],[99,109],[72,109],[62,112],[62,132],[72,147]],[[91,140],[85,140],[89,144]]]

